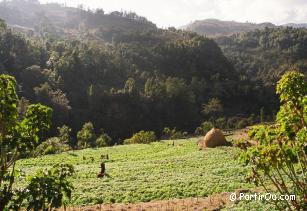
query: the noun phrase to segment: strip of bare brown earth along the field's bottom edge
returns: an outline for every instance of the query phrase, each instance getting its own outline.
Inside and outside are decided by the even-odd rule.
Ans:
[[[230,205],[231,193],[215,194],[207,198],[174,199],[168,201],[155,201],[137,204],[105,204],[88,207],[68,208],[68,211],[200,211],[220,210]]]

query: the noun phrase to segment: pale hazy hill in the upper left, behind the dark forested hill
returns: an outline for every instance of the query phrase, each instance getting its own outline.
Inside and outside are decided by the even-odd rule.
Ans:
[[[119,32],[155,30],[156,25],[133,12],[95,11],[66,7],[59,4],[40,4],[36,0],[0,2],[0,18],[11,27],[34,35],[93,38],[112,41]]]

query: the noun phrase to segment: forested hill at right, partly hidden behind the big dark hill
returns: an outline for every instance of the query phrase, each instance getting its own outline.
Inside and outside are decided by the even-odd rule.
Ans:
[[[307,29],[266,28],[215,39],[239,74],[275,86],[289,69],[307,71]]]

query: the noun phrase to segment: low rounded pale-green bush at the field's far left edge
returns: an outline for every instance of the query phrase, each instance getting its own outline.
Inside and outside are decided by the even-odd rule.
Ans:
[[[69,149],[70,147],[68,144],[62,143],[61,139],[58,137],[53,137],[41,143],[34,151],[34,155],[38,156],[38,155],[58,154],[61,152],[68,151]]]

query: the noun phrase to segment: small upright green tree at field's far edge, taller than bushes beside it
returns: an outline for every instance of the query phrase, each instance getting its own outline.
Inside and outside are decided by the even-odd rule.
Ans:
[[[77,133],[77,139],[79,149],[95,146],[96,135],[94,126],[91,122],[87,122],[83,125],[82,129]]]

